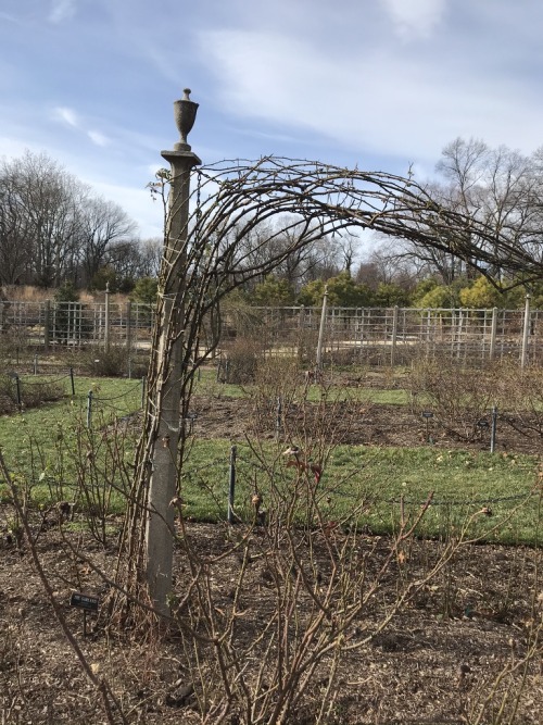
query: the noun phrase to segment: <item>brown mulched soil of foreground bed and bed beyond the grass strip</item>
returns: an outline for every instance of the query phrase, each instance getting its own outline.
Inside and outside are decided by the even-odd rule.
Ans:
[[[273,407],[255,413],[255,403],[248,400],[198,397],[193,412],[199,436],[239,439],[255,427],[261,435],[275,435]],[[287,423],[301,414],[300,409],[291,408]],[[334,418],[342,442],[419,446],[427,440],[426,423],[401,407],[361,405],[353,412],[352,407],[346,411],[339,405]],[[489,445],[487,430],[470,442],[437,427],[430,427],[430,434],[434,445],[447,448],[488,449]],[[519,433],[503,421],[497,445],[509,451],[541,451],[538,436]],[[17,547],[9,535],[11,517],[8,507],[0,509],[0,722],[105,723],[100,697],[59,626],[28,545],[22,541]],[[106,547],[73,524],[71,529],[52,524],[37,538],[41,565],[88,663],[98,677],[109,682],[127,722],[203,722],[175,633],[153,641],[129,632],[113,637],[100,617],[89,615],[84,636],[81,610],[70,607],[73,591],[98,596],[101,601],[110,591],[71,547],[112,576],[117,557],[115,532],[121,523],[110,522],[113,533]],[[200,555],[210,562],[219,558],[210,565],[217,607],[226,610],[240,567],[239,559],[227,554],[228,532],[224,525],[188,523],[187,527]],[[315,541],[312,545],[313,551],[318,549]],[[386,538],[369,536],[359,546],[371,551],[370,566],[376,571],[390,549]],[[441,546],[439,541],[414,542],[348,633],[350,643],[358,646],[340,665],[330,724],[475,723],[481,712],[480,723],[543,723],[541,549],[465,546],[378,632],[395,601],[399,582],[405,577],[415,580],[435,560]],[[304,555],[308,558],[308,550]],[[181,596],[188,572],[180,551],[175,576]],[[254,564],[248,577],[239,629],[241,650],[264,626],[273,597],[262,562]],[[532,657],[526,664],[529,652]],[[314,722],[326,684],[326,677],[315,679],[292,723]],[[121,722],[118,714],[115,718]]]

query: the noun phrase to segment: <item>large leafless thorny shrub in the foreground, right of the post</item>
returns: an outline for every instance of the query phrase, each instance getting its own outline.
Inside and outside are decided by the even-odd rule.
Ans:
[[[203,552],[179,507],[185,566],[171,604],[191,707],[210,723],[341,722],[333,713],[344,658],[384,637],[394,615],[447,565],[469,522],[425,568],[408,568],[406,552],[415,558],[431,497],[411,515],[395,512],[393,537],[368,540],[357,522],[369,500],[353,499],[337,517],[308,465],[288,466],[265,448],[254,454],[253,525],[224,528]],[[217,586],[225,561],[237,562],[229,587]],[[395,593],[382,601],[391,578]]]

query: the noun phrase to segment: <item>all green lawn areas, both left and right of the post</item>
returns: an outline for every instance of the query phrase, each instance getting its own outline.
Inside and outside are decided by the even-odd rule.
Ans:
[[[204,373],[199,385],[204,389],[211,380]],[[123,417],[141,407],[141,382],[110,378],[76,378],[75,396],[70,379],[64,380],[66,395],[60,401],[22,414],[0,417],[0,445],[9,467],[18,476],[31,477],[33,496],[47,500],[51,486],[40,484],[40,476],[54,471],[62,487],[70,489],[73,467],[66,457],[59,470],[61,447],[75,450],[76,430],[99,440],[115,417]],[[87,407],[91,391],[92,432],[87,429]],[[198,389],[197,389],[198,392]],[[316,392],[316,391],[315,391]],[[350,393],[352,390],[350,390]],[[220,386],[220,393],[240,397],[240,386]],[[402,403],[403,390],[359,390],[361,396],[376,396],[376,402]],[[384,400],[383,400],[384,399]],[[79,435],[79,441],[81,437]],[[90,438],[89,438],[90,440]],[[126,457],[132,455],[134,440],[126,441]],[[288,497],[299,486],[301,504],[296,512],[304,521],[302,500],[313,478],[296,479],[294,468],[286,466],[281,447],[263,443],[252,451],[247,443],[237,447],[236,512],[252,515],[250,500],[257,489],[263,493],[264,508],[272,503],[272,480],[276,493]],[[312,454],[320,461],[318,452]],[[230,442],[197,440],[184,466],[182,496],[187,515],[197,520],[224,520],[227,511]],[[450,536],[483,508],[492,515],[477,514],[470,535],[484,536],[505,543],[536,543],[540,528],[540,501],[529,496],[536,480],[538,460],[533,455],[467,452],[422,448],[371,448],[338,446],[324,463],[324,473],[316,487],[323,515],[330,522],[356,523],[371,533],[389,533],[397,527],[401,505],[412,520],[430,493],[433,501],[419,526],[420,535]],[[71,478],[72,477],[72,478]],[[298,480],[298,483],[296,483]],[[5,497],[0,482],[0,493]],[[122,500],[111,499],[111,507],[121,510]]]

